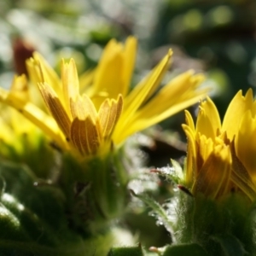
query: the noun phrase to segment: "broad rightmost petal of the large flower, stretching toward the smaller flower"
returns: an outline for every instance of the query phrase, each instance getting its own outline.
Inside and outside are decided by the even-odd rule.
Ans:
[[[130,124],[126,124],[127,128],[121,135],[122,139],[137,131],[143,131],[204,98],[208,89],[196,91],[195,87],[201,79],[198,79],[195,84],[190,81],[191,79],[191,73],[185,73],[177,79],[173,79],[173,83],[166,85],[167,88],[165,86],[160,90],[158,95],[133,114],[129,120]],[[173,85],[174,93],[170,85]],[[189,90],[186,91],[186,87],[189,86]],[[178,90],[176,90],[177,87],[179,87]],[[182,90],[183,87],[184,90]]]

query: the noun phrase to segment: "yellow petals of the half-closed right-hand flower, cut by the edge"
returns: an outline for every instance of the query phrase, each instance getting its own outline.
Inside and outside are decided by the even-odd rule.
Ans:
[[[201,102],[196,124],[188,111],[183,130],[188,137],[185,185],[193,195],[212,198],[240,191],[256,196],[256,103],[253,91],[241,90],[230,102],[223,124],[210,98]]]

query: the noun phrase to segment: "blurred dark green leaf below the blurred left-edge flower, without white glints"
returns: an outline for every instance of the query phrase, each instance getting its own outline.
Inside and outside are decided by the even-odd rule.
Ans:
[[[0,177],[6,194],[14,196],[53,228],[60,227],[65,218],[61,189],[41,182],[26,166],[9,162],[0,162]]]

